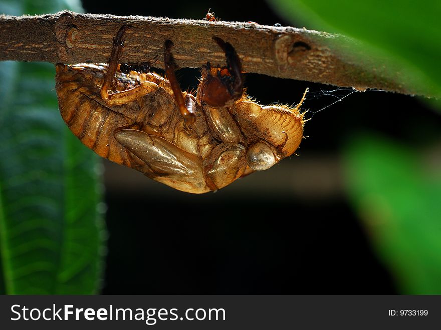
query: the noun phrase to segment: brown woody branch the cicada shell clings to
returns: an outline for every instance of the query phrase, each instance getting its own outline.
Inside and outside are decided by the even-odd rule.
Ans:
[[[207,61],[225,65],[225,56],[211,40],[220,37],[235,48],[243,70],[357,89],[376,88],[403,94],[421,94],[404,86],[399,68],[354,53],[354,41],[339,35],[270,27],[255,23],[172,20],[76,14],[69,11],[43,16],[0,16],[0,60],[51,63],[106,63],[112,39],[125,23],[121,62],[149,60],[163,68],[165,40],[174,43],[179,67],[201,67]]]

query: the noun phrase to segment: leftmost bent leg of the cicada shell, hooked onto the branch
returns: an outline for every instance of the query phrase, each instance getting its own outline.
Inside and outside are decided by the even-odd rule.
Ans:
[[[130,101],[139,99],[144,95],[158,91],[158,85],[153,82],[144,81],[140,85],[126,91],[109,93],[109,87],[112,84],[113,78],[115,77],[116,69],[119,63],[119,56],[124,46],[123,36],[129,27],[130,26],[127,24],[123,25],[116,34],[116,37],[113,38],[113,47],[109,59],[109,67],[100,91],[102,99],[110,106],[126,104]]]

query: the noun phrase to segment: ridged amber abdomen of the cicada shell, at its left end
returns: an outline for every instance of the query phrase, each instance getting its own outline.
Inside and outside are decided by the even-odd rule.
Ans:
[[[135,125],[139,102],[124,106],[107,106],[104,103],[100,88],[107,66],[58,64],[56,70],[60,113],[72,133],[101,157],[132,168],[143,166],[113,137],[115,129]],[[121,88],[121,84],[132,84],[131,80],[122,79],[114,82],[115,90]]]

